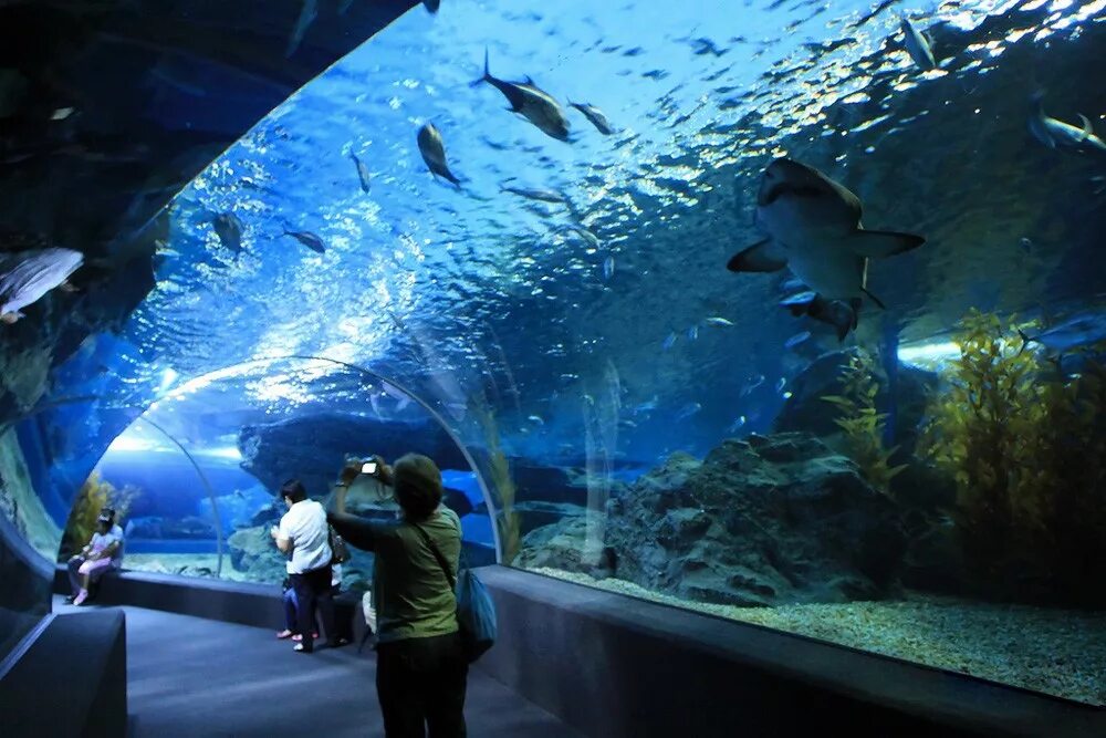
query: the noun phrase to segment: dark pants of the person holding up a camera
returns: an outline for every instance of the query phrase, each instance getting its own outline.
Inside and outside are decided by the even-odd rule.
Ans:
[[[376,647],[376,696],[387,738],[462,738],[469,665],[456,633]]]

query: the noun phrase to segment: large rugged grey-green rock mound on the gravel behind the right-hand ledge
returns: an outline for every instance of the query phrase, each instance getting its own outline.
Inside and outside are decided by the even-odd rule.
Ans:
[[[519,562],[586,571],[585,518],[540,528]],[[811,434],[727,440],[703,461],[674,454],[607,505],[613,574],[721,604],[879,599],[906,541],[896,505]]]

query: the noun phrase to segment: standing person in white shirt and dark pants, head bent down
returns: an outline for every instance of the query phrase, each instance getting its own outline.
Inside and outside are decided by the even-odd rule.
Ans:
[[[307,499],[298,479],[281,486],[288,512],[270,534],[281,553],[290,553],[286,570],[295,591],[296,621],[301,641],[293,651],[310,654],[315,649],[315,610],[322,615],[327,645],[343,645],[334,631],[334,601],[331,593],[331,543],[326,512],[319,502]]]

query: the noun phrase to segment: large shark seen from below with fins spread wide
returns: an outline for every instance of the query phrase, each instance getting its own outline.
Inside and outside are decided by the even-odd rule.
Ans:
[[[926,242],[914,233],[867,230],[860,215],[859,198],[846,187],[805,164],[776,158],[764,169],[757,194],[755,225],[765,238],[734,254],[727,269],[774,272],[786,267],[822,300],[842,301],[853,313],[849,330],[855,330],[863,297],[884,306],[867,289],[868,259]]]

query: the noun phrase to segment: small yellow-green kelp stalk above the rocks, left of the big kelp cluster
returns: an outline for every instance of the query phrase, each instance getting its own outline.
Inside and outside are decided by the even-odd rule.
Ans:
[[[842,375],[842,394],[825,395],[824,402],[835,405],[838,415],[834,423],[842,429],[848,456],[856,462],[865,480],[887,496],[891,496],[891,479],[907,465],[891,466],[890,459],[898,446],[884,445],[887,413],[876,410],[876,381],[872,357],[857,350]]]

